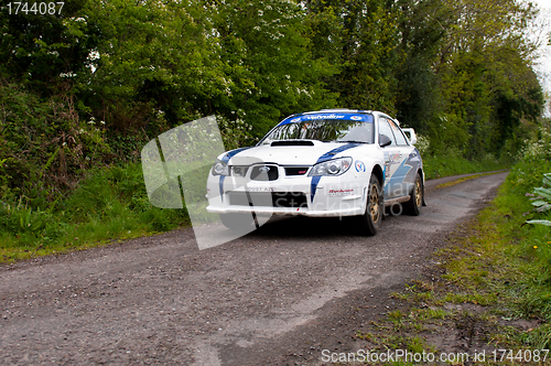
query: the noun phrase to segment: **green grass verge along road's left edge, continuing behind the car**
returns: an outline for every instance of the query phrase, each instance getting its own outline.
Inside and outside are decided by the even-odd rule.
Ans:
[[[504,168],[455,157],[426,157],[426,179]],[[41,204],[44,206],[44,204]],[[185,209],[153,207],[140,163],[90,171],[52,207],[4,197],[0,202],[0,262],[108,245],[190,225]]]

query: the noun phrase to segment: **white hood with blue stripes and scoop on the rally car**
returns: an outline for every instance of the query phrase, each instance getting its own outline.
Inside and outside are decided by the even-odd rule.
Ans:
[[[310,141],[309,141],[310,142]],[[230,165],[277,163],[280,165],[313,165],[317,162],[347,157],[364,143],[311,141],[312,146],[259,146],[237,149],[219,157]]]

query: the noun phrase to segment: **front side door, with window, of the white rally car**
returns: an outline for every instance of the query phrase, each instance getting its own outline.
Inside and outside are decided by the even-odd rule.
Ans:
[[[385,155],[385,200],[396,198],[404,195],[403,173],[400,166],[404,159],[402,148],[398,146],[390,119],[379,116],[379,136],[386,134],[391,143],[383,148]],[[379,137],[380,139],[380,137]]]

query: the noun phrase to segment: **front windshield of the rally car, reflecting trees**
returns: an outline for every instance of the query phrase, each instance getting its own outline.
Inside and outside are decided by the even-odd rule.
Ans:
[[[268,144],[279,140],[374,143],[374,123],[342,119],[299,121],[278,126],[260,143]]]

